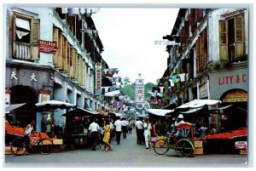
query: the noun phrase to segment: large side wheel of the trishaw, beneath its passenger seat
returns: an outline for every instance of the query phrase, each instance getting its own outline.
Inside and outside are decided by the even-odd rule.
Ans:
[[[189,157],[193,154],[194,148],[189,140],[178,140],[175,145],[175,151],[179,157]]]

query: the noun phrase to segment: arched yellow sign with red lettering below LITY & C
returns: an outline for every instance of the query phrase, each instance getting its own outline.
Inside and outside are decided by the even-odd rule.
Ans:
[[[234,90],[231,91],[229,94],[227,94],[223,102],[241,102],[241,101],[247,101],[247,93],[242,90]]]

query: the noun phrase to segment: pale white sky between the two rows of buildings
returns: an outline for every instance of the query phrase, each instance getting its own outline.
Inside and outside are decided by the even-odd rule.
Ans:
[[[166,45],[155,44],[170,35],[178,9],[101,8],[92,14],[109,68],[135,82],[141,73],[145,83],[156,83],[167,68]]]

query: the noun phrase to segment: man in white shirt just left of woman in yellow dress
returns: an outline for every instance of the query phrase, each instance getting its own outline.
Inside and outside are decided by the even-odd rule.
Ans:
[[[92,151],[96,150],[96,140],[98,139],[99,134],[100,134],[100,127],[98,123],[96,123],[96,118],[93,117],[92,123],[90,123],[90,126],[89,126],[89,137],[92,143]]]

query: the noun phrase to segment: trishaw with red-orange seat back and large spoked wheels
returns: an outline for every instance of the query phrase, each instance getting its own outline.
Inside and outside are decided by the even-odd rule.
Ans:
[[[178,123],[176,128],[179,136],[168,134],[167,137],[154,141],[154,151],[157,154],[166,154],[170,148],[174,149],[179,157],[189,157],[194,153],[193,124]]]

